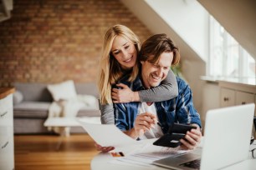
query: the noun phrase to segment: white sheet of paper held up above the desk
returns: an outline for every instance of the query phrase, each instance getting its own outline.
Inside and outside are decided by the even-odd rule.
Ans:
[[[102,147],[125,148],[125,146],[138,144],[135,139],[132,139],[122,133],[114,124],[92,124],[79,121],[90,137]]]

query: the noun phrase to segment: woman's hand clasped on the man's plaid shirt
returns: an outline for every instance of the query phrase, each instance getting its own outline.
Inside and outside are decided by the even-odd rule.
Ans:
[[[116,86],[122,87],[122,89],[112,89],[111,96],[114,103],[140,101],[138,92],[131,91],[131,89],[123,83],[116,84]]]

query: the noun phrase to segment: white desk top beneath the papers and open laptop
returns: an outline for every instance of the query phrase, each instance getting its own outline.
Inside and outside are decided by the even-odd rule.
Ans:
[[[256,148],[256,140],[253,143],[254,145],[251,145],[252,148]],[[252,159],[252,154],[251,152],[248,155],[248,159],[251,159],[250,163],[248,166],[250,166],[248,169],[249,170],[255,170],[256,169],[256,159]],[[115,160],[110,153],[99,153],[96,155],[92,161],[90,162],[90,168],[91,170],[148,170],[148,169],[159,169],[159,170],[166,170],[167,168],[161,168],[158,166],[152,166],[152,167],[137,167],[133,165],[122,165],[122,164],[115,164],[115,163],[110,163],[110,161]],[[232,167],[228,167],[225,170],[241,170],[241,166],[243,165],[234,165]],[[244,167],[243,167],[244,168]],[[243,169],[242,168],[242,169]],[[246,170],[246,169],[244,169]]]

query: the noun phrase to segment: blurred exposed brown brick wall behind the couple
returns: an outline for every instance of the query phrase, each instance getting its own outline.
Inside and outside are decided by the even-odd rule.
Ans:
[[[0,87],[13,82],[96,82],[105,30],[143,42],[151,32],[118,0],[17,0],[0,23]]]

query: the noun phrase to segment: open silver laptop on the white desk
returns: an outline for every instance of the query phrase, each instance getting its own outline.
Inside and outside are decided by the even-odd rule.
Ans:
[[[255,105],[209,110],[203,148],[175,158],[163,158],[153,164],[172,169],[209,170],[226,168],[248,159]]]

